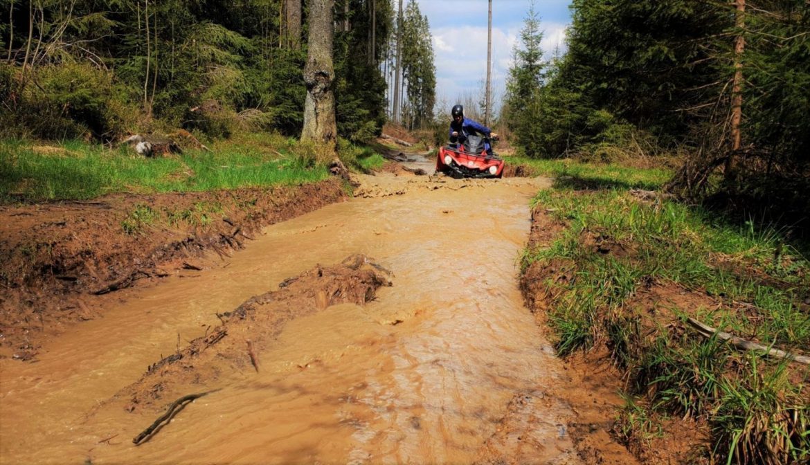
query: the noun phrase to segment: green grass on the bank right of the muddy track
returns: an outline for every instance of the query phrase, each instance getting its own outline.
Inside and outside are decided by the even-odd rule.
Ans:
[[[810,315],[802,301],[810,296],[810,265],[799,249],[767,225],[732,224],[675,201],[634,198],[630,188],[663,185],[657,170],[540,165],[543,173],[568,179],[539,192],[533,207],[567,228],[547,247],[524,250],[522,268],[555,262],[573,270],[573,279],[548,280],[555,296],[548,321],[561,355],[604,343],[625,370],[629,395],[644,398],[627,407],[625,436],[646,442],[656,431],[650,418],[694,416],[713,429],[715,460],[810,460],[810,395],[795,381],[807,381],[804,365],[741,353],[679,329],[691,316],[807,355]],[[706,304],[656,313],[633,304],[654,284],[703,296]]]

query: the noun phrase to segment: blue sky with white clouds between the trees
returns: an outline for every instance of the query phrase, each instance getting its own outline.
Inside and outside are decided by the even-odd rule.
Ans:
[[[404,3],[411,0],[404,0]],[[463,96],[483,96],[487,78],[488,0],[416,0],[428,17],[436,64],[437,105]],[[512,50],[518,44],[531,0],[492,0],[492,96],[497,111],[505,92]],[[571,23],[570,0],[535,0],[543,31],[544,58],[565,53],[565,28]],[[403,6],[404,8],[404,6]],[[450,109],[437,108],[446,113]]]

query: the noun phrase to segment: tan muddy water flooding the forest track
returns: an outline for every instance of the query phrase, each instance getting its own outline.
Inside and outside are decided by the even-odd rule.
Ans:
[[[0,462],[575,463],[552,395],[565,377],[516,285],[542,187],[367,178],[360,198],[266,228],[219,269],[127,294],[37,363],[0,360]],[[223,361],[134,413],[116,397],[215,313],[355,253],[394,285],[288,323],[258,373]],[[132,444],[173,399],[214,389]]]

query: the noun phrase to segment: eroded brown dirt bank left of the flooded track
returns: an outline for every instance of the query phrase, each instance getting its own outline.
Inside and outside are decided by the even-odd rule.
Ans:
[[[0,207],[0,358],[29,360],[50,337],[100,318],[119,294],[221,267],[267,224],[347,199],[343,184],[113,195]],[[205,252],[215,251],[216,254]]]

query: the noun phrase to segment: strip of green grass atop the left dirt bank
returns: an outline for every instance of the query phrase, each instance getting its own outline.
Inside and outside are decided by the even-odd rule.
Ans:
[[[77,141],[37,147],[4,140],[0,200],[236,189],[315,182],[329,176],[325,167],[313,165],[296,148],[293,139],[248,134],[216,143],[212,151],[186,150],[179,156],[145,159],[126,147],[109,150]]]

